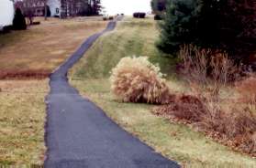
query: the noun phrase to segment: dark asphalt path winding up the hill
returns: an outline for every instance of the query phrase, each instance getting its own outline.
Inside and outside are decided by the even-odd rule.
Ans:
[[[46,98],[46,168],[176,168],[177,163],[156,153],[111,121],[103,110],[83,99],[69,84],[69,68],[116,21],[89,37],[60,68],[50,75]]]

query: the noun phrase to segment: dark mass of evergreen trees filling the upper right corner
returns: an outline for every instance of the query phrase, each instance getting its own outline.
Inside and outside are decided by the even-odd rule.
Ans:
[[[225,50],[231,57],[256,48],[255,0],[169,0],[158,47],[175,54],[182,44]],[[251,42],[253,41],[253,42]]]

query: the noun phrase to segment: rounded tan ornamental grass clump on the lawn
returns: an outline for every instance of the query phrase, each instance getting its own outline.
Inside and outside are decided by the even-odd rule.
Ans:
[[[170,91],[162,79],[160,68],[147,57],[122,58],[111,72],[111,89],[119,100],[166,104]]]

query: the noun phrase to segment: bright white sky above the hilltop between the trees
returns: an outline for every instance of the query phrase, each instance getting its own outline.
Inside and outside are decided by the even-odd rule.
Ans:
[[[150,0],[102,0],[106,14],[132,15],[134,12],[150,12]]]

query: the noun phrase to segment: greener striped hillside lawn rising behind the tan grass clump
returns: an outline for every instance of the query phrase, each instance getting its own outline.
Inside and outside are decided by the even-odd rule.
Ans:
[[[120,58],[127,56],[148,56],[152,62],[159,64],[163,73],[173,76],[167,72],[173,71],[176,60],[168,58],[171,56],[159,57],[161,53],[154,47],[155,39],[158,37],[156,29],[157,25],[151,19],[143,22],[125,19],[117,26],[116,31],[96,41],[87,54],[91,57],[81,60],[72,77],[108,78],[109,71],[117,65]],[[97,56],[92,57],[95,55]]]

